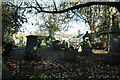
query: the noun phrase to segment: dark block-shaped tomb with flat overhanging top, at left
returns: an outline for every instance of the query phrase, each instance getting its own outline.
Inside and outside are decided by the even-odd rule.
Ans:
[[[29,35],[27,37],[27,45],[26,45],[26,60],[33,60],[36,58],[37,54],[37,37],[34,35]]]

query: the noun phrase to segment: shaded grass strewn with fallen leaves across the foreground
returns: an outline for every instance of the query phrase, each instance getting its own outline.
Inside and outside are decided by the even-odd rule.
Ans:
[[[40,47],[38,56],[42,57],[42,60],[20,61],[8,58],[6,63],[3,63],[3,80],[111,80],[119,78],[120,65],[104,64],[106,54],[90,56],[78,54],[76,62],[60,60],[64,54],[68,53],[53,51],[50,47]]]

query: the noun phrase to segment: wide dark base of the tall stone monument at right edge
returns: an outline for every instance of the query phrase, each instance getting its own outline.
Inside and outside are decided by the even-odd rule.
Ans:
[[[120,64],[120,53],[109,53],[107,57],[108,64]]]

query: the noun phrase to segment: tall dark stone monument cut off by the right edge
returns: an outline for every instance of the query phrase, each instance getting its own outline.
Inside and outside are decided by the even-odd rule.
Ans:
[[[113,23],[111,30],[109,30],[110,34],[110,48],[107,61],[110,64],[120,64],[120,13],[117,17],[119,19],[119,23]],[[114,21],[114,20],[113,20]]]

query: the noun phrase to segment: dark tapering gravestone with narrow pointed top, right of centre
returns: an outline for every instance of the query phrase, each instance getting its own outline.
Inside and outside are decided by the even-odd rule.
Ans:
[[[92,48],[90,44],[90,34],[86,31],[86,34],[83,36],[83,45],[82,45],[82,52],[83,55],[92,54]]]

